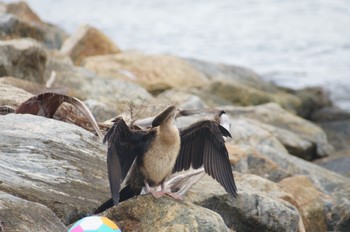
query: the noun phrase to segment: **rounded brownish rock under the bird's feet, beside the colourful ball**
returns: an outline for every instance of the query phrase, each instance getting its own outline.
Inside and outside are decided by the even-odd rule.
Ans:
[[[170,197],[138,196],[103,213],[122,231],[228,231],[219,214]]]

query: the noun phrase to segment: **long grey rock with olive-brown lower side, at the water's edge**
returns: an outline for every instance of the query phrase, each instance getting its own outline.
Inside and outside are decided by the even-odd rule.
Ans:
[[[212,81],[204,92],[231,103],[247,106],[276,102],[293,112],[297,111],[301,104],[298,97],[265,82],[252,70],[194,59],[189,59],[188,62]]]

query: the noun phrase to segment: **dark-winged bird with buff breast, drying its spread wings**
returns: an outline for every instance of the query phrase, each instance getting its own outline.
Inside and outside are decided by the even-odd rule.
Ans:
[[[177,112],[174,105],[167,107],[147,130],[133,129],[122,117],[113,121],[103,140],[108,144],[107,169],[112,198],[98,207],[95,214],[139,195],[143,187],[156,198],[166,194],[181,199],[165,191],[164,182],[172,173],[191,167],[204,167],[232,197],[237,196],[223,138],[231,137],[230,132],[219,122],[208,119],[179,130],[175,125]],[[125,187],[120,190],[124,179]],[[151,187],[159,185],[160,191],[152,190]]]

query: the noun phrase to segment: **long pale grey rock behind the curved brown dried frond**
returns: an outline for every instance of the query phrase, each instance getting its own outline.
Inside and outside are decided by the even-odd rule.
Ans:
[[[70,96],[81,100],[94,99],[112,111],[125,111],[129,105],[152,102],[154,98],[135,83],[96,76],[91,71],[74,66],[64,57],[50,57],[45,70],[45,79],[55,72],[52,88],[65,89]]]

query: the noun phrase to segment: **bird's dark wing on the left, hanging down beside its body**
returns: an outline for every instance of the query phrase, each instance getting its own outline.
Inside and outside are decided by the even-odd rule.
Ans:
[[[127,175],[137,155],[147,148],[153,134],[130,130],[122,118],[116,118],[103,142],[108,142],[107,167],[109,185],[115,205],[119,203],[121,182]]]

